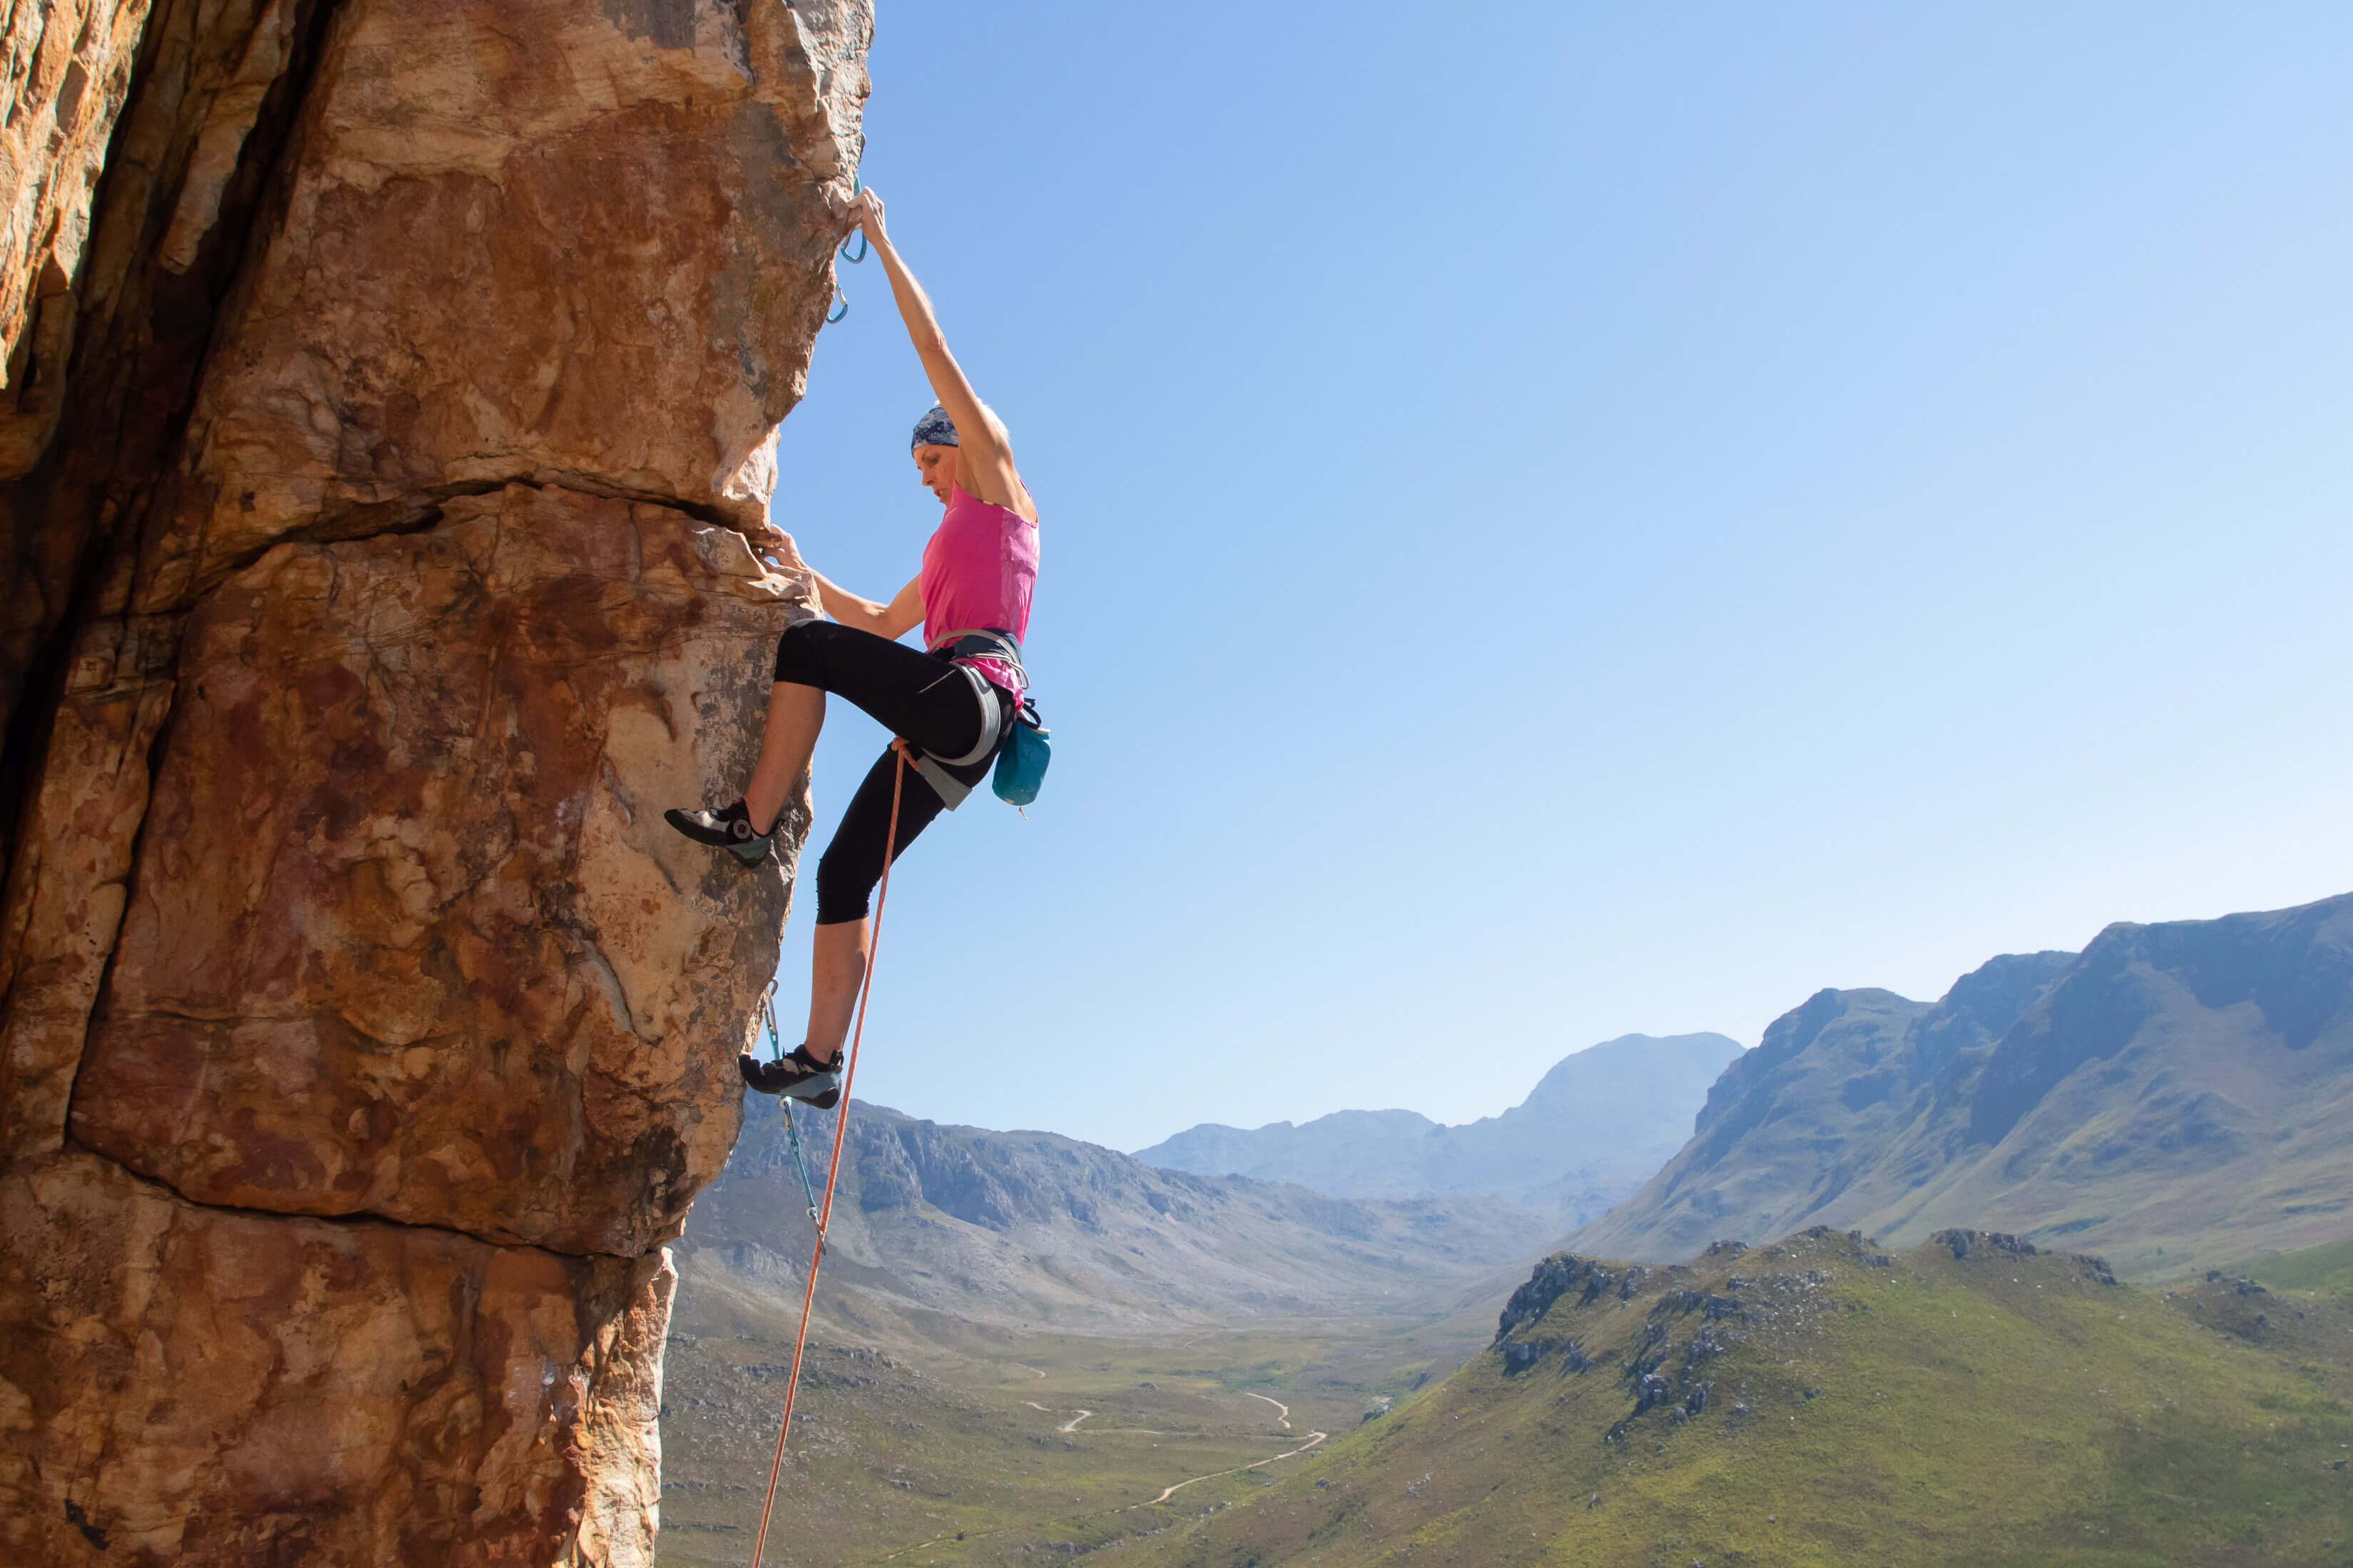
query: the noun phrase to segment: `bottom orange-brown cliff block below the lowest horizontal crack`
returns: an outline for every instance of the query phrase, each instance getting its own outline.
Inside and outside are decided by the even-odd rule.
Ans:
[[[652,1563],[668,1253],[0,1178],[9,1563]]]

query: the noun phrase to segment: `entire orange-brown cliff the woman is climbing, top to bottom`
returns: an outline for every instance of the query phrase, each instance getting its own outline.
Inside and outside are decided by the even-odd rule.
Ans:
[[[649,1563],[871,14],[5,28],[0,1554]]]

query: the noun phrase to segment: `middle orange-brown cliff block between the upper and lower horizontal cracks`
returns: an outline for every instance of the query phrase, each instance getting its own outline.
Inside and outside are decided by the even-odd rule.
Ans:
[[[784,922],[661,820],[751,771],[798,614],[722,564],[673,508],[518,484],[207,595],[73,1138],[200,1204],[673,1232]]]

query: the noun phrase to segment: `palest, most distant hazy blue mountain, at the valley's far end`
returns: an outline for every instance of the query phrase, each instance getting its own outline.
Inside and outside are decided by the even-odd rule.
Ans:
[[[1252,1131],[1205,1121],[1136,1159],[1334,1197],[1485,1192],[1574,1225],[1631,1194],[1682,1147],[1708,1084],[1739,1053],[1722,1034],[1626,1034],[1565,1058],[1501,1117],[1440,1126],[1409,1110],[1344,1110]]]

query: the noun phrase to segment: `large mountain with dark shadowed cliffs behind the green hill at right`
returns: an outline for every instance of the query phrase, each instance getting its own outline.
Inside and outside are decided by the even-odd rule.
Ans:
[[[1800,1225],[1911,1244],[1988,1225],[2169,1274],[2344,1234],[2353,896],[2118,924],[2000,957],[1937,1004],[1826,990],[1781,1016],[1689,1145],[1579,1251],[1689,1258]]]

